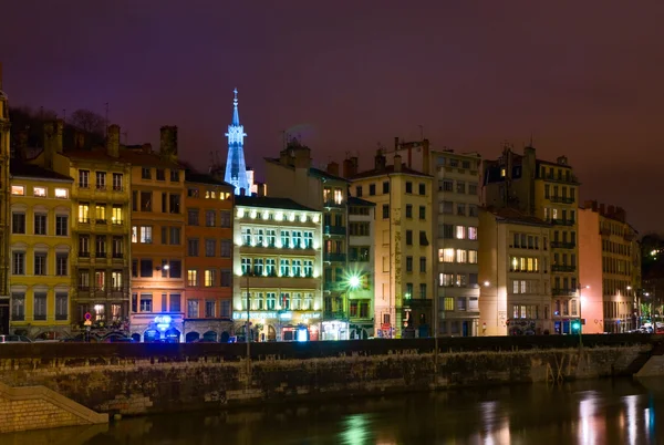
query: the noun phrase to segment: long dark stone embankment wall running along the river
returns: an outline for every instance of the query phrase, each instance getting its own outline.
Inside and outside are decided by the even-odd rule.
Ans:
[[[649,335],[246,344],[6,344],[0,382],[44,386],[98,413],[234,405],[633,375]],[[436,350],[438,353],[434,353]],[[1,397],[1,394],[0,394]],[[64,426],[64,425],[62,425]]]

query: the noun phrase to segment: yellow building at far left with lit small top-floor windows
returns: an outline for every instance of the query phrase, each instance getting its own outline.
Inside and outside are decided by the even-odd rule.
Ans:
[[[54,339],[71,331],[73,179],[11,162],[11,329]]]

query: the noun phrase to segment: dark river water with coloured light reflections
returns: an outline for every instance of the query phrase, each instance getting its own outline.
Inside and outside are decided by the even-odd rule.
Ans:
[[[629,379],[291,403],[0,435],[2,445],[662,444],[664,384]],[[660,424],[657,418],[662,418]],[[656,438],[660,437],[660,441]]]

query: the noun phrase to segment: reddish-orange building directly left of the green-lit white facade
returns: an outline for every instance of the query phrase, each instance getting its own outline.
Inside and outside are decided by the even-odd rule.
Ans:
[[[232,330],[234,186],[190,170],[185,177],[185,339],[227,342]]]

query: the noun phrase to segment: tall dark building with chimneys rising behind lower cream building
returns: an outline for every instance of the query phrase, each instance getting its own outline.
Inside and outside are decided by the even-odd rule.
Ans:
[[[546,241],[551,250],[553,332],[571,333],[572,308],[579,307],[578,247],[579,180],[566,156],[554,163],[537,159],[526,147],[518,155],[506,147],[484,164],[484,198],[488,207],[513,208],[552,225]]]

